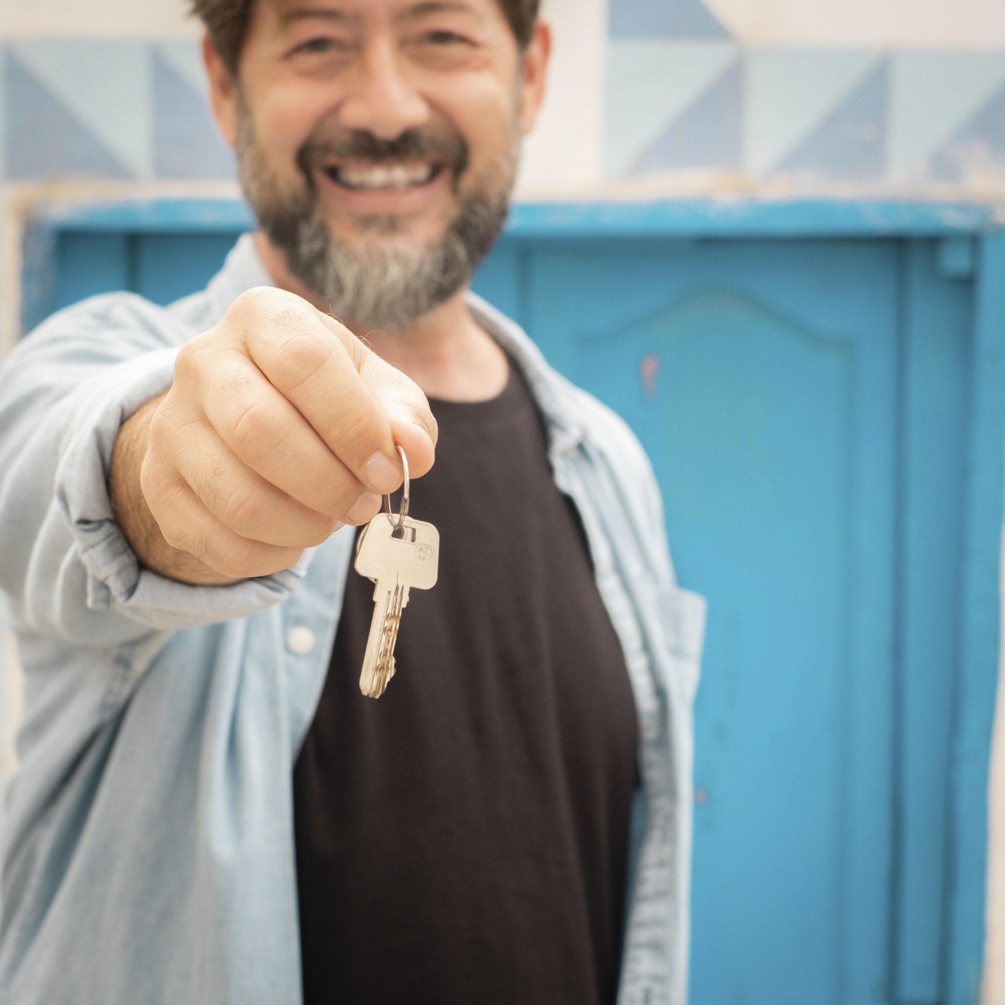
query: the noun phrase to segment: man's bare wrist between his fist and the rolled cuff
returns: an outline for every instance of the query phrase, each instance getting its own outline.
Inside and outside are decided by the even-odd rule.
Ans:
[[[140,484],[147,454],[150,421],[165,395],[152,398],[123,425],[109,465],[109,497],[116,523],[140,564],[168,579],[194,586],[223,586],[235,582],[164,540]]]

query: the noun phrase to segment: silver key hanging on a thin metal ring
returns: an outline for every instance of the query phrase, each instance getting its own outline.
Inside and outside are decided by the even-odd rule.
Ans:
[[[356,546],[356,571],[376,584],[376,607],[360,674],[360,690],[367,697],[380,697],[394,676],[394,643],[401,612],[408,603],[408,591],[435,586],[439,571],[439,532],[432,524],[407,516],[408,461],[404,451],[401,456],[405,464],[401,514],[378,514],[360,535]]]

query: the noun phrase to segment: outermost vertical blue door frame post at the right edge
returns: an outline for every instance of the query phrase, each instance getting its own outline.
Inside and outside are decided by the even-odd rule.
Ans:
[[[969,363],[962,631],[951,763],[951,1005],[976,1005],[984,949],[987,789],[998,683],[999,545],[1005,485],[1005,235],[984,242]]]

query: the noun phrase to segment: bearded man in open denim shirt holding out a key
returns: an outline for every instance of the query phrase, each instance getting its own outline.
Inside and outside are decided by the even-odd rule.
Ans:
[[[682,1005],[701,602],[626,427],[466,288],[537,2],[196,10],[258,232],[0,378],[0,1001]],[[375,701],[350,566],[398,446],[440,580]]]

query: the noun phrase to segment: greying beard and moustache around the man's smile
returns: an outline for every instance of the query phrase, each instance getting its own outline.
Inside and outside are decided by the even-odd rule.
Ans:
[[[467,146],[454,132],[409,130],[395,140],[363,131],[311,137],[296,156],[297,179],[283,184],[258,144],[241,102],[235,145],[244,196],[289,271],[335,316],[371,330],[400,332],[465,285],[495,243],[509,213],[519,161],[516,127],[508,148],[469,181]],[[315,172],[333,160],[374,164],[431,160],[452,175],[458,209],[443,236],[410,242],[406,218],[358,217],[363,235],[336,237],[325,222]]]

